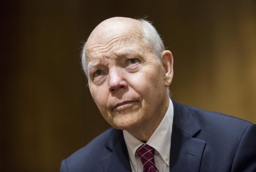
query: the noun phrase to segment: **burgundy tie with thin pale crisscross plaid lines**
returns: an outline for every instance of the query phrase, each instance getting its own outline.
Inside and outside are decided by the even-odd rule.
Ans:
[[[143,164],[143,172],[159,172],[155,165],[155,149],[153,147],[143,144],[136,152],[140,156],[140,160]]]

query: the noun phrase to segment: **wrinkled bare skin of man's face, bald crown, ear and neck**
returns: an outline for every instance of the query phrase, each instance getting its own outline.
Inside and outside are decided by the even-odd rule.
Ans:
[[[145,142],[168,108],[173,59],[166,50],[159,64],[142,39],[140,21],[110,18],[93,30],[85,54],[89,89],[102,116]]]

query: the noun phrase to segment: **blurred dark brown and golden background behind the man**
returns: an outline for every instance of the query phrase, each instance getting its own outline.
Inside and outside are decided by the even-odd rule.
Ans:
[[[256,123],[256,1],[4,1],[0,171],[59,171],[110,127],[80,66],[102,20],[145,17],[174,56],[173,99]]]

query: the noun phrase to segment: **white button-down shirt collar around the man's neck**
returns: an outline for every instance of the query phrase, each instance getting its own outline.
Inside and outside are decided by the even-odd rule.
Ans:
[[[173,122],[173,104],[169,100],[168,109],[164,118],[157,126],[154,133],[150,136],[147,143],[149,146],[154,147],[161,155],[163,161],[169,166],[170,149],[171,149],[171,136],[172,136],[172,122]],[[132,134],[123,130],[124,140],[127,146],[129,158],[135,162],[135,152],[143,144],[142,141],[134,137]],[[167,158],[166,158],[167,157]]]

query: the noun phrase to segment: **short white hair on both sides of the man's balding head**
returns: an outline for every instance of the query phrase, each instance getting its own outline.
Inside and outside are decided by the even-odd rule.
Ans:
[[[161,54],[165,50],[163,40],[161,39],[160,35],[156,31],[156,28],[152,25],[152,23],[145,19],[137,19],[142,23],[142,36],[143,41],[145,42],[146,46],[151,49],[156,57],[156,60],[159,64],[161,64]],[[82,52],[81,52],[81,63],[84,69],[84,73],[88,78],[88,67],[86,64],[86,57],[85,57],[85,45],[84,43]]]

